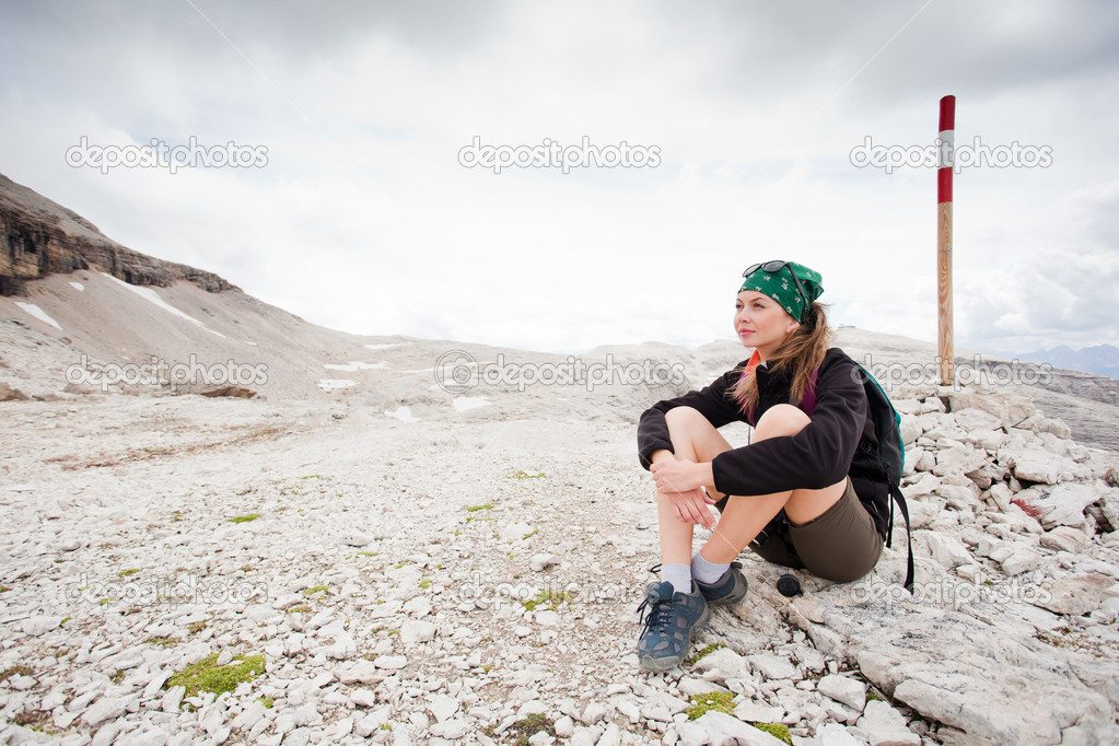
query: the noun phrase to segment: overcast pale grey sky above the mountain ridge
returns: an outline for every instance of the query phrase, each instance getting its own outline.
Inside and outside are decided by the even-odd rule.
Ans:
[[[833,323],[932,341],[935,170],[852,153],[920,158],[946,94],[1009,161],[955,179],[957,343],[1119,343],[1112,0],[0,1],[0,172],[356,333],[735,339],[786,258]],[[495,173],[476,139],[630,157]],[[90,164],[152,141],[252,164]]]

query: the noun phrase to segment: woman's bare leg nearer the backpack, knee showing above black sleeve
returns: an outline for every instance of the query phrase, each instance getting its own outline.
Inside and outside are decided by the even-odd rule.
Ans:
[[[754,428],[753,442],[758,443],[782,435],[796,435],[809,422],[811,421],[808,415],[797,407],[790,404],[779,404],[762,415],[758,427]],[[847,478],[845,476],[839,482],[821,490],[791,490],[772,494],[731,497],[726,501],[726,508],[723,510],[715,530],[699,550],[699,555],[709,563],[730,563],[746,548],[746,545],[758,536],[759,531],[765,528],[782,508],[791,522],[807,523],[834,506],[843,497],[846,488]]]

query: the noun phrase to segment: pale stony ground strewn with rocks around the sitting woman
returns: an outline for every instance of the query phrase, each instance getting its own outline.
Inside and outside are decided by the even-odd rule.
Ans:
[[[647,674],[651,398],[609,390],[0,404],[0,743],[1119,740],[1113,454],[1010,394],[894,390],[916,594],[901,527],[793,598],[743,555],[698,660]],[[189,693],[196,663],[247,680]]]

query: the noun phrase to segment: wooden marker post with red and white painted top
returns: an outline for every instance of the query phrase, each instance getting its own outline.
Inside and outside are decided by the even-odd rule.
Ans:
[[[952,166],[956,145],[956,96],[940,100],[937,148],[937,330],[940,385],[951,386],[952,344]]]

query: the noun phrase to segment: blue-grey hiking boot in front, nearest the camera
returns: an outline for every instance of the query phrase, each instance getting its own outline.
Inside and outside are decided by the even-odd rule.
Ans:
[[[692,632],[707,623],[711,612],[703,593],[674,593],[671,583],[650,583],[638,612],[645,611],[645,630],[637,641],[637,659],[647,671],[667,671],[687,658]]]

